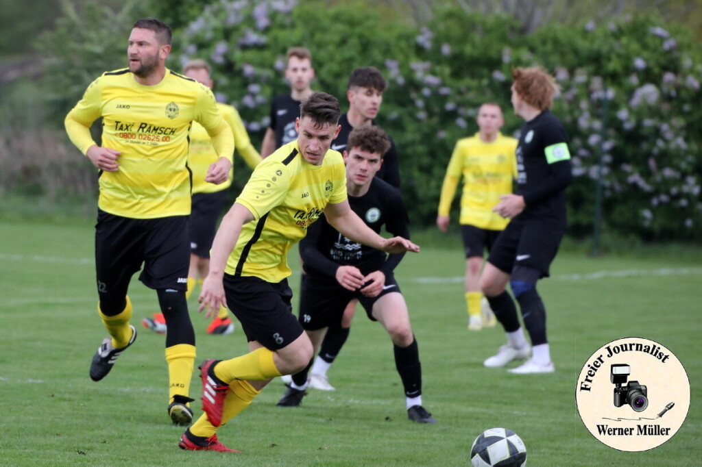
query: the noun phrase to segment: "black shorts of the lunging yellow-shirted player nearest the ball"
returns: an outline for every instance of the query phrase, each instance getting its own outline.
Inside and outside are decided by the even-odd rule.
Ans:
[[[293,315],[288,280],[270,283],[253,276],[224,275],[227,305],[241,323],[246,339],[276,351],[302,335]]]

